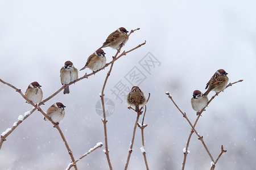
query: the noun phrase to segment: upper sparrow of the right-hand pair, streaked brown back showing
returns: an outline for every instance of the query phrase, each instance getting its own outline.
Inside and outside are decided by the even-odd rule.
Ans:
[[[228,73],[226,73],[226,71],[223,69],[217,70],[207,83],[205,89],[208,89],[204,93],[204,96],[207,96],[210,91],[215,91],[217,93],[224,90],[229,81],[228,76],[226,76],[227,74]]]

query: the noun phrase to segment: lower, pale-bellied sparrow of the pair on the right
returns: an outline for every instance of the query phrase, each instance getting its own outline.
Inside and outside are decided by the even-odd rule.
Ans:
[[[191,105],[194,111],[196,111],[196,116],[207,105],[208,101],[208,97],[204,96],[201,91],[195,90],[193,92],[193,97],[191,98]]]

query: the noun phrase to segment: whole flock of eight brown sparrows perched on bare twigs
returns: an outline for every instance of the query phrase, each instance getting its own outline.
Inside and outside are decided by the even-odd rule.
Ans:
[[[103,43],[101,48],[97,49],[92,55],[90,55],[87,59],[87,62],[81,70],[85,68],[89,68],[90,70],[97,71],[102,69],[106,65],[106,57],[104,50],[102,48],[111,47],[117,49],[125,45],[128,40],[127,30],[123,27],[118,28],[116,31],[111,33],[106,41]],[[228,76],[226,76],[225,70],[220,69],[217,70],[216,73],[212,76],[212,78],[207,83],[208,90],[202,94],[201,91],[195,90],[193,92],[193,97],[191,99],[192,108],[199,114],[199,112],[207,105],[208,97],[210,91],[220,92],[225,89],[228,84]],[[66,61],[64,66],[60,69],[60,81],[61,84],[69,84],[75,81],[78,78],[78,70],[74,67],[71,61]],[[43,91],[40,88],[40,84],[38,82],[32,82],[28,86],[25,96],[32,103],[40,103],[43,99]],[[69,86],[64,88],[64,94],[69,94]],[[126,97],[127,104],[135,107],[135,111],[139,112],[139,107],[143,107],[146,104],[146,97],[138,86],[134,86],[131,88],[131,91]],[[57,124],[61,120],[63,120],[65,116],[65,105],[60,102],[53,104],[51,107],[47,109],[47,116],[51,118],[51,120]],[[46,117],[44,120],[49,121]]]

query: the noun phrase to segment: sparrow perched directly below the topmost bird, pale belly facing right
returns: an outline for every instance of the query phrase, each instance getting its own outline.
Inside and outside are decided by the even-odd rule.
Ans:
[[[92,55],[87,59],[87,62],[81,70],[84,70],[86,67],[92,71],[100,70],[106,65],[106,57],[104,50],[97,49]],[[80,70],[80,71],[81,71]]]

